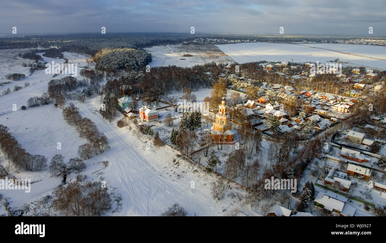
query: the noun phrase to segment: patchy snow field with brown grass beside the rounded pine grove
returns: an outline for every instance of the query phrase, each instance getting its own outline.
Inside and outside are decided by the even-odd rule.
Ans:
[[[152,54],[150,67],[176,65],[177,67],[193,67],[208,62],[232,63],[234,60],[225,55],[215,45],[159,45],[145,48]],[[184,54],[193,55],[183,57]]]

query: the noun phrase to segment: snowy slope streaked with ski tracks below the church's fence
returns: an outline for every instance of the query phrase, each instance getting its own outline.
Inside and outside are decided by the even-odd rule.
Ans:
[[[113,215],[157,216],[174,203],[187,209],[191,216],[226,215],[232,209],[240,208],[236,199],[227,196],[217,203],[213,201],[210,182],[215,177],[212,174],[201,172],[189,162],[179,159],[168,147],[154,147],[145,135],[138,141],[128,129],[117,127],[116,121],[121,116],[113,122],[105,121],[96,112],[99,100],[100,97],[95,97],[76,106],[83,117],[96,123],[112,147],[98,155],[97,159],[109,161],[103,177],[108,187],[115,188],[122,195],[122,210]],[[173,158],[179,163],[173,165]],[[195,188],[191,188],[192,181]],[[234,187],[226,194],[230,192],[242,193]],[[246,215],[255,214],[248,206],[241,211]]]

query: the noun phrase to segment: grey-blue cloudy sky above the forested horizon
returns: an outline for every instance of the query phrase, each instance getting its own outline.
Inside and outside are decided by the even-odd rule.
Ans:
[[[384,0],[14,0],[0,33],[190,32],[386,35]]]

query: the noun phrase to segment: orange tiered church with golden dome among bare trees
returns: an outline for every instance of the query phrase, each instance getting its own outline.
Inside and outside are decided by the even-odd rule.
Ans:
[[[224,97],[221,105],[218,106],[218,113],[216,114],[216,121],[210,129],[210,136],[213,144],[235,144],[235,132],[232,130],[232,123],[229,121],[230,117],[227,114],[228,106],[225,105]]]

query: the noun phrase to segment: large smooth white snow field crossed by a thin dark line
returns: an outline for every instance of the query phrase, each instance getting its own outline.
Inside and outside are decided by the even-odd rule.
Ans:
[[[306,46],[307,45],[307,46]],[[371,59],[376,57],[386,59],[386,48],[375,45],[348,45],[348,44],[283,44],[283,43],[240,43],[216,45],[225,54],[229,55],[238,63],[256,62],[261,60],[277,62],[291,61],[294,62],[317,62],[326,63],[330,60],[339,58],[340,61],[348,62],[346,65],[355,65],[368,68],[386,69],[386,60]],[[313,47],[322,47],[330,50],[317,49]],[[352,54],[365,55],[359,57],[339,52],[349,52]]]

